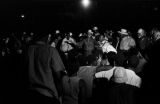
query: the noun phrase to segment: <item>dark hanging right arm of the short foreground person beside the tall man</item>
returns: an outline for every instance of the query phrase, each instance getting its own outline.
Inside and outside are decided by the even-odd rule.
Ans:
[[[79,80],[79,95],[78,95],[78,104],[86,103],[86,83],[83,79]]]

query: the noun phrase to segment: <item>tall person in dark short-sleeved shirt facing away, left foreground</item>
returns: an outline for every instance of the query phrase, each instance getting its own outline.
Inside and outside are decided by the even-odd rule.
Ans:
[[[65,67],[56,48],[47,42],[48,36],[42,34],[28,49],[29,102],[59,104]]]

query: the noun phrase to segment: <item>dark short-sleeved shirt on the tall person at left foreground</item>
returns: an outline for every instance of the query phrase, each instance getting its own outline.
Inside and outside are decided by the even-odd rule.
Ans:
[[[39,93],[58,98],[58,72],[65,69],[58,51],[43,42],[28,49],[29,88]]]

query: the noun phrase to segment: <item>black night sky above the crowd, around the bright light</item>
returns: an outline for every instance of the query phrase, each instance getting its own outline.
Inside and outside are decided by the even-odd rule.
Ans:
[[[55,28],[83,30],[91,26],[157,26],[158,0],[91,0],[88,9],[80,0],[1,0],[2,30],[47,30]],[[24,14],[25,18],[20,18]]]

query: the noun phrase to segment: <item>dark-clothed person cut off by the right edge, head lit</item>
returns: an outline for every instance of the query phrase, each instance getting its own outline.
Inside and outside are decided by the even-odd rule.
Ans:
[[[147,101],[149,102],[157,102],[159,101],[158,94],[160,93],[160,86],[158,84],[159,82],[159,65],[160,62],[158,61],[160,59],[160,31],[157,29],[153,32],[153,39],[154,42],[152,43],[152,47],[149,49],[148,52],[148,64],[144,70],[144,83],[143,87],[145,89],[144,96],[147,97]],[[146,94],[148,96],[146,96]]]

